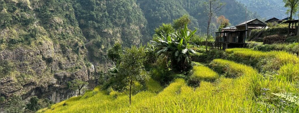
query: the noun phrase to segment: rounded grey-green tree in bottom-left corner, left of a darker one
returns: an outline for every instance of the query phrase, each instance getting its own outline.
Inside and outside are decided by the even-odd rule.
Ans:
[[[23,101],[22,97],[18,95],[14,95],[11,97],[7,103],[7,108],[5,111],[7,113],[22,113],[24,112],[24,108],[26,107],[25,102]]]

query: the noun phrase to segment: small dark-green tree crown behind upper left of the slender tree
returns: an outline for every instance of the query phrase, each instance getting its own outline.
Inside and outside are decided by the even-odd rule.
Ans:
[[[108,49],[108,58],[114,62],[114,59],[119,60],[120,59],[120,54],[121,54],[121,44],[116,43],[113,45],[112,48]]]

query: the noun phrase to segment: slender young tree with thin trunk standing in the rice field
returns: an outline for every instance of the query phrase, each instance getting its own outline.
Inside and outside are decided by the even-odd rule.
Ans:
[[[141,73],[144,70],[144,57],[144,47],[137,48],[132,46],[131,49],[126,48],[125,53],[121,55],[118,73],[114,77],[112,89],[126,93],[129,97],[130,105],[134,84],[147,79],[147,75]]]

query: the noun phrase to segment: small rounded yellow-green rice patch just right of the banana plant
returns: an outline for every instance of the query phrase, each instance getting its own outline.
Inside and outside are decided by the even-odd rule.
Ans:
[[[217,78],[219,78],[219,75],[210,68],[206,66],[194,66],[193,74],[189,78],[188,84],[190,86],[199,86],[201,81],[213,82]]]

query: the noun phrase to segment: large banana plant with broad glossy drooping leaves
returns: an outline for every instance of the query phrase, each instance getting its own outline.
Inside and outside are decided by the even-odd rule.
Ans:
[[[163,32],[161,35],[155,35],[155,53],[168,57],[174,68],[186,71],[191,67],[190,53],[195,51],[191,49],[190,38],[196,30],[190,32],[185,24],[184,28],[173,33]],[[194,44],[196,45],[196,44]]]

